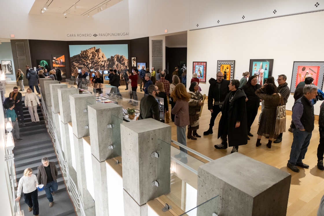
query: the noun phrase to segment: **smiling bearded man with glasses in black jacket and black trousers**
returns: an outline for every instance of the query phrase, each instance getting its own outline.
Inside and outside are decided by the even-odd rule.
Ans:
[[[218,72],[216,74],[217,80],[211,78],[209,80],[209,91],[208,91],[208,109],[212,113],[212,118],[210,119],[208,131],[203,132],[203,135],[208,135],[213,133],[213,127],[215,119],[222,111],[224,100],[227,93],[229,92],[228,85],[229,80],[223,79],[223,73]],[[214,99],[214,104],[213,104]]]

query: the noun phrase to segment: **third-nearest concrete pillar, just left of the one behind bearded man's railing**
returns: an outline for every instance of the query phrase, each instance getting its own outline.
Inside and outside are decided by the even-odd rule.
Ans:
[[[105,160],[121,156],[120,124],[122,123],[122,107],[114,103],[89,105],[88,113],[96,214],[108,216]],[[112,124],[114,125],[112,128],[107,127],[107,125]],[[109,146],[113,146],[113,149],[109,148]]]

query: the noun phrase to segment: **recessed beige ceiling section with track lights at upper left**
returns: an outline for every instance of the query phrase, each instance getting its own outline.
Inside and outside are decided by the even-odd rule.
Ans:
[[[105,10],[122,0],[35,0],[31,7],[29,14],[36,14],[42,16],[93,16],[102,10]],[[106,5],[107,4],[107,5]],[[44,6],[47,5],[47,9],[44,10]],[[102,10],[101,10],[101,8]],[[99,7],[99,11],[98,11]],[[70,13],[68,13],[70,12]]]

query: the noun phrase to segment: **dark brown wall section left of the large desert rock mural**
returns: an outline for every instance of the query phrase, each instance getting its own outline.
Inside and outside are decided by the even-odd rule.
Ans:
[[[52,55],[63,54],[65,55],[65,67],[59,69],[66,69],[66,78],[70,78],[70,59],[67,41],[61,40],[29,40],[29,50],[31,65],[37,68],[36,59],[49,59],[52,61]],[[51,64],[51,70],[54,67]],[[65,82],[65,79],[62,80]]]

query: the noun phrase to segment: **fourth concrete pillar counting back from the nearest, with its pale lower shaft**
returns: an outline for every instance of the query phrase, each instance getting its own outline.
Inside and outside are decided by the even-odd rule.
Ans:
[[[96,104],[96,96],[92,94],[75,94],[69,95],[69,98],[78,188],[83,199],[85,211],[87,212],[86,215],[95,215],[97,208],[95,208],[95,203],[92,201],[93,197],[87,190],[86,172],[88,171],[85,168],[85,153],[82,138],[90,135],[87,109],[88,105]]]

